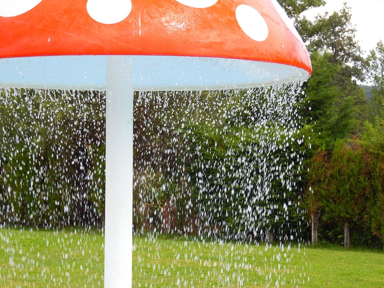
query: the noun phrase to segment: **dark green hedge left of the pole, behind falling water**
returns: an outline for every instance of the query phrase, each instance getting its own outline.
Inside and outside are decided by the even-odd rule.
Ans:
[[[100,224],[103,95],[25,89],[0,93],[1,223]]]

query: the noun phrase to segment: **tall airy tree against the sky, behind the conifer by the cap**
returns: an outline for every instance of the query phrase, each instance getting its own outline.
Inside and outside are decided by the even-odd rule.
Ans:
[[[340,94],[334,103],[336,109],[333,111],[332,127],[336,137],[333,139],[348,137],[351,132],[362,132],[368,109],[364,92],[356,80],[364,80],[366,60],[362,58],[361,48],[355,40],[356,30],[351,24],[350,9],[344,5],[331,15],[318,15],[306,33],[308,50],[323,55],[324,61],[332,63],[335,68],[329,84],[336,87]]]

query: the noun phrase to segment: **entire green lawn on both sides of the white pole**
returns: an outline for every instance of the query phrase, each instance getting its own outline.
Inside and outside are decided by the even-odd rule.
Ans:
[[[103,287],[104,237],[0,229],[0,287]],[[384,253],[134,237],[132,287],[384,287]],[[308,281],[309,280],[309,281]]]

